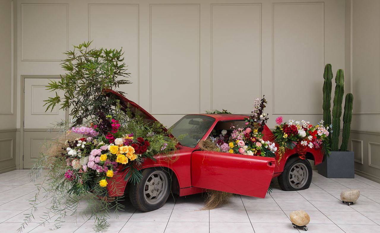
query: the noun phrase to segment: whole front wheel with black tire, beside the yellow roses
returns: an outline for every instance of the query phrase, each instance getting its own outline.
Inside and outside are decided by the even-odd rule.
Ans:
[[[166,171],[147,168],[142,171],[142,179],[138,184],[130,184],[129,199],[136,209],[148,212],[165,204],[170,189],[171,182]]]

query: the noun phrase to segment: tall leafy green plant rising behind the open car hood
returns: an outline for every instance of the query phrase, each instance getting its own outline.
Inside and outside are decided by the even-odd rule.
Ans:
[[[122,50],[91,49],[91,42],[84,42],[74,46],[73,51],[67,51],[62,63],[63,70],[67,71],[60,81],[50,80],[47,90],[54,91],[55,97],[44,100],[46,111],[59,105],[61,109],[70,108],[70,116],[75,119],[74,125],[83,119],[92,120],[98,110],[109,114],[115,106],[114,97],[106,97],[104,89],[115,90],[120,85],[131,82],[129,78]],[[61,98],[57,91],[65,94]],[[124,92],[119,92],[125,94]]]

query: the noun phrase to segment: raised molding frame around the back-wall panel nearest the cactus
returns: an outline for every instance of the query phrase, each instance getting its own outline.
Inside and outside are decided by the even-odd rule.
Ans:
[[[322,5],[322,67],[325,64],[325,3],[324,2],[285,2],[272,3],[272,115],[322,115],[323,112],[293,112],[279,113],[275,111],[275,89],[274,89],[274,6],[276,5]]]

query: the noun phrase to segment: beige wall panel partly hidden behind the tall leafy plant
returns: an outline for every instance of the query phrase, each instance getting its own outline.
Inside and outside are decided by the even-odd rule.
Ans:
[[[105,33],[106,32],[106,33]],[[133,82],[119,90],[138,103],[139,84],[139,7],[128,4],[89,4],[89,40],[92,48],[123,49]]]

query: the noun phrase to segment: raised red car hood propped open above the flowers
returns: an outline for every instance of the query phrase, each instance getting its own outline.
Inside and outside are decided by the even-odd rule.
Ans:
[[[153,124],[153,122],[155,122],[155,121],[159,122],[157,119],[154,118],[154,116],[150,115],[150,113],[148,113],[145,109],[141,108],[141,106],[139,106],[138,104],[136,104],[135,102],[133,102],[131,100],[128,100],[123,95],[119,94],[118,92],[116,92],[114,90],[110,90],[110,89],[105,89],[104,91],[106,93],[106,96],[110,97],[111,95],[113,95],[114,97],[116,97],[117,99],[120,100],[120,105],[122,106],[122,108],[121,108],[122,111],[125,112],[126,109],[129,108],[131,110],[133,116],[135,116],[136,115],[136,109],[137,109],[139,111],[139,115],[144,119],[144,122],[146,122],[148,124]],[[128,103],[129,103],[129,106],[128,106]],[[161,125],[163,127],[163,130],[165,132],[168,132],[168,129],[165,128],[165,126],[163,124],[161,124]],[[171,133],[169,134],[169,137],[174,138],[174,136]]]

